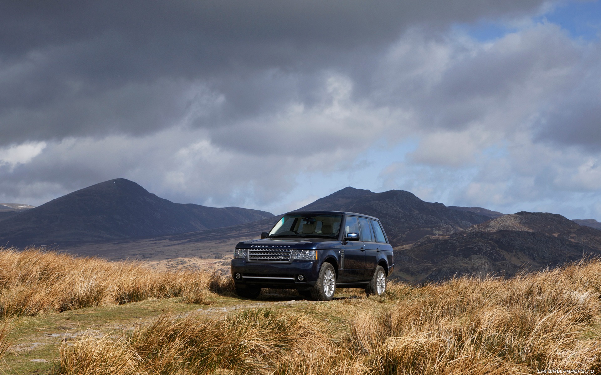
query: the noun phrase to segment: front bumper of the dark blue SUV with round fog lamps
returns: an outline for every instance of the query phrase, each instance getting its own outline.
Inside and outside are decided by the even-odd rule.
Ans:
[[[319,264],[311,260],[294,260],[291,263],[254,263],[246,259],[231,260],[231,275],[237,287],[247,285],[275,289],[307,290],[315,285]],[[236,278],[240,274],[240,278]],[[299,280],[302,275],[303,280]]]

